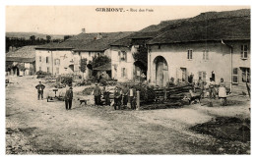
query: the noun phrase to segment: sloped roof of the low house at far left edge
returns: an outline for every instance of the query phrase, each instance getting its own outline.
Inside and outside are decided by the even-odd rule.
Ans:
[[[21,57],[21,58],[34,58],[35,57],[35,45],[28,45],[21,47],[15,51],[6,53],[6,57]]]

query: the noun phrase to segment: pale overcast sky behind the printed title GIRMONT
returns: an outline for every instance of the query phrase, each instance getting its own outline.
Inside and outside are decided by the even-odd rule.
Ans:
[[[191,18],[208,11],[230,11],[249,6],[111,6],[126,12],[96,12],[107,6],[7,6],[6,31],[26,31],[46,34],[78,34],[87,32],[137,31],[157,25],[160,21]],[[137,9],[131,12],[130,9]],[[139,12],[139,9],[154,12]],[[127,11],[128,10],[128,11]]]

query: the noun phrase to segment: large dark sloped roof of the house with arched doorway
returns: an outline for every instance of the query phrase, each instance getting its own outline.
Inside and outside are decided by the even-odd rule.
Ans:
[[[218,18],[199,22],[184,22],[172,27],[148,44],[250,39],[250,17]]]

